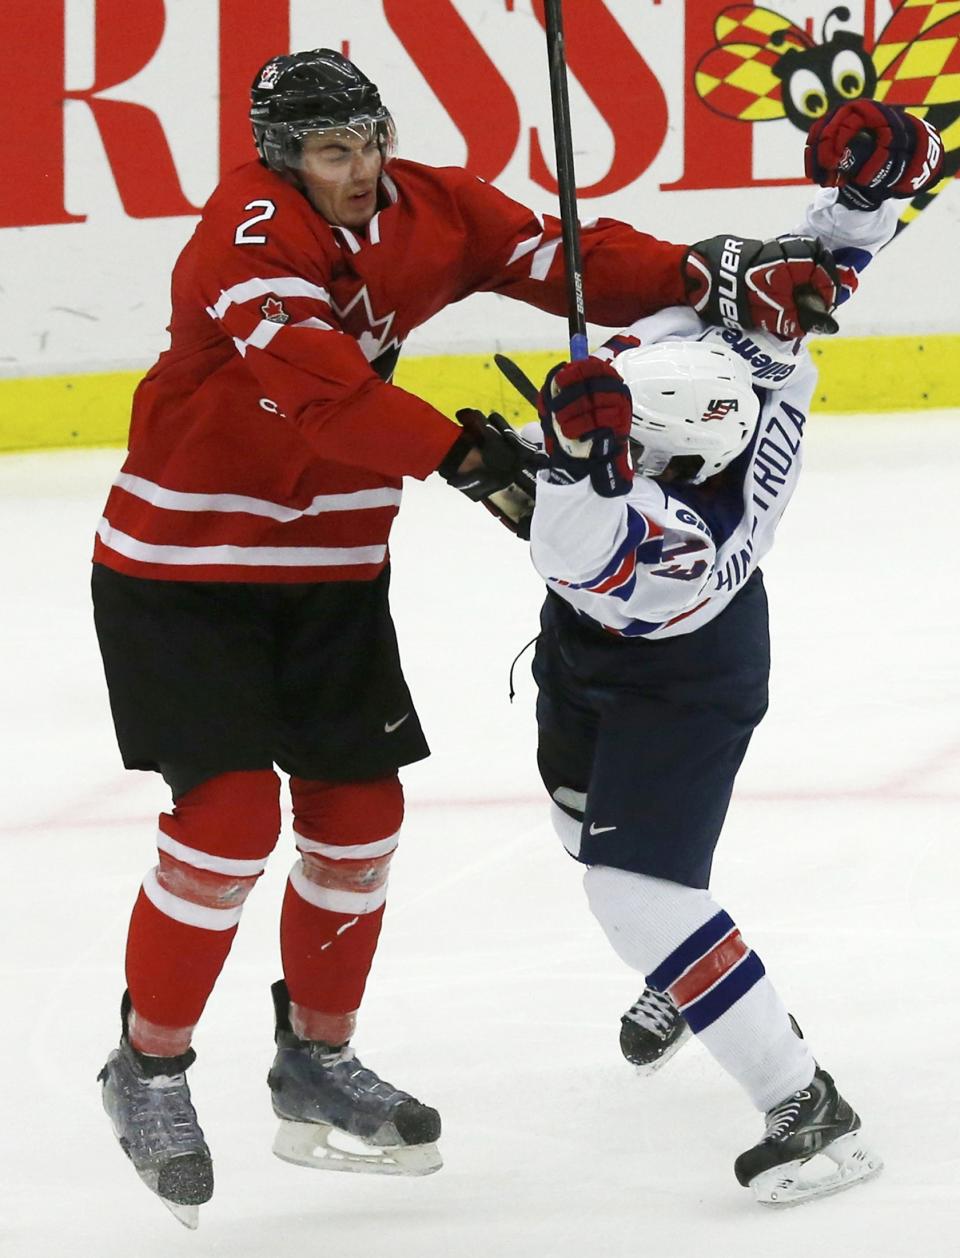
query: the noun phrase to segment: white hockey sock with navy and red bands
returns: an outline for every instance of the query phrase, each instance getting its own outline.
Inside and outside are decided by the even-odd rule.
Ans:
[[[708,891],[591,866],[594,917],[627,965],[667,991],[703,1045],[767,1111],[805,1087],[817,1063],[764,964]]]

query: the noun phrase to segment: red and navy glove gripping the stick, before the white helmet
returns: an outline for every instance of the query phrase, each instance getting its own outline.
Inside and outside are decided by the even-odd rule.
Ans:
[[[561,362],[537,398],[544,442],[555,479],[571,483],[590,477],[603,498],[627,493],[630,463],[630,390],[599,359]]]

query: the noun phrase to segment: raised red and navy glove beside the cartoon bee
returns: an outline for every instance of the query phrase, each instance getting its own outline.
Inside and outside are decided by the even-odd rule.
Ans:
[[[839,187],[852,210],[876,210],[888,196],[916,196],[944,169],[944,141],[925,118],[877,101],[838,104],[810,127],[807,177]]]

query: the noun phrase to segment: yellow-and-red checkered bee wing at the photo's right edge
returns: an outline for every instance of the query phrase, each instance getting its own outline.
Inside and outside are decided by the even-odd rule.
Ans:
[[[937,8],[942,10],[946,5]],[[900,14],[927,10],[920,6],[901,9],[893,15],[881,33],[883,43],[878,43],[872,54],[879,73],[873,92],[877,101],[913,107],[960,102],[960,3],[954,8],[956,11],[949,18],[920,30],[906,44],[887,40],[887,31]]]

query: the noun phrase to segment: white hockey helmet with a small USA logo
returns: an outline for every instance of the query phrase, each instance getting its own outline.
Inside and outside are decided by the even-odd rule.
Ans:
[[[613,366],[633,398],[630,444],[640,476],[661,476],[682,457],[691,460],[683,479],[701,484],[750,444],[760,400],[750,367],[725,346],[661,341],[619,353]]]

